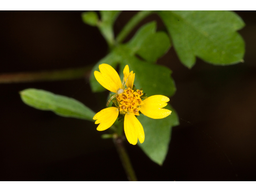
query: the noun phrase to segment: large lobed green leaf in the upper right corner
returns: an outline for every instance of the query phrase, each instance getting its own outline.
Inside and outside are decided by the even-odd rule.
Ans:
[[[191,68],[196,56],[226,65],[242,62],[244,40],[236,32],[244,27],[231,11],[158,11],[181,62]]]

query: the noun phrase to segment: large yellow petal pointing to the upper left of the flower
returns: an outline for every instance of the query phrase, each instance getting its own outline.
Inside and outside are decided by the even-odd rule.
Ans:
[[[108,64],[99,65],[100,72],[94,71],[96,80],[107,90],[116,93],[119,88],[122,88],[120,77],[116,70]]]

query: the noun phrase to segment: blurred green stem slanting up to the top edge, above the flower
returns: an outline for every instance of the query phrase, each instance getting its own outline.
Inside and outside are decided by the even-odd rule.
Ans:
[[[136,15],[134,15],[131,20],[124,26],[122,31],[116,37],[116,42],[121,43],[126,36],[133,30],[133,28],[148,15],[152,14],[154,11],[140,11]]]

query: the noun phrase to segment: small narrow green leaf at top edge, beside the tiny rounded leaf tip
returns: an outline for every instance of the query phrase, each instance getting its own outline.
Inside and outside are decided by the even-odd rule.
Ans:
[[[98,27],[110,46],[114,44],[113,25],[120,12],[121,11],[100,11],[101,22]]]

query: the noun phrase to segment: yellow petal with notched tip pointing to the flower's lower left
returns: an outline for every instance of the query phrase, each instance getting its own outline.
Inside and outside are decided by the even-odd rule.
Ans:
[[[102,109],[100,112],[96,113],[96,115],[93,117],[94,120],[96,120],[95,124],[99,124],[97,127],[98,131],[104,131],[112,126],[114,122],[116,121],[116,118],[118,116],[118,108],[116,107],[109,107]]]

